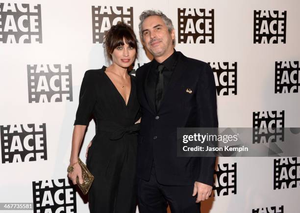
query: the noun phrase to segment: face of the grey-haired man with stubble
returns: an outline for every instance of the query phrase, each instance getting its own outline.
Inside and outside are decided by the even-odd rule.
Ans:
[[[142,24],[143,42],[154,57],[169,55],[173,52],[174,29],[171,33],[159,16],[149,16]]]

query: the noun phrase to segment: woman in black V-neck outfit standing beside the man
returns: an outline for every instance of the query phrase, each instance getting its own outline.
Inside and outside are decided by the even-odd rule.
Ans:
[[[94,116],[97,133],[88,150],[87,167],[95,179],[89,191],[91,213],[135,213],[136,133],[140,106],[134,76],[127,68],[137,58],[137,39],[129,25],[118,23],[107,31],[104,47],[112,64],[84,74],[79,94],[68,173],[82,183],[78,151]]]

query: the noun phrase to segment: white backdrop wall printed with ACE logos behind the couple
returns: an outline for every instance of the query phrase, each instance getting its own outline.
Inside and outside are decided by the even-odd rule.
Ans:
[[[104,13],[96,16],[94,6]],[[112,15],[105,13],[110,6]],[[299,8],[297,0],[1,0],[0,202],[33,203],[28,212],[36,213],[88,212],[86,197],[69,186],[66,172],[80,84],[86,70],[109,65],[101,30],[121,17],[138,35],[146,9],[173,20],[177,51],[214,68],[223,88],[220,127],[274,119],[281,127],[300,127]],[[198,15],[188,12],[195,9]],[[195,41],[186,42],[189,36]],[[150,61],[140,47],[134,69]],[[91,121],[81,159],[94,134]],[[299,213],[300,158],[219,157],[213,194],[202,212]]]

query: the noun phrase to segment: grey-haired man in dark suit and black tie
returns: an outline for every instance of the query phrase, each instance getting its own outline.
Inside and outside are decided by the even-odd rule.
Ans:
[[[154,59],[136,71],[142,109],[137,176],[140,213],[199,213],[212,191],[215,157],[177,157],[176,128],[218,127],[211,67],[174,50],[172,21],[140,16],[140,36]],[[197,195],[197,196],[196,196]]]

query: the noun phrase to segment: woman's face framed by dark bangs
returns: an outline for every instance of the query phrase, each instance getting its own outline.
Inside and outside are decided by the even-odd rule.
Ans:
[[[132,46],[129,46],[124,38],[123,43],[124,45],[117,46],[114,49],[111,56],[114,64],[127,68],[134,62],[136,50]]]

